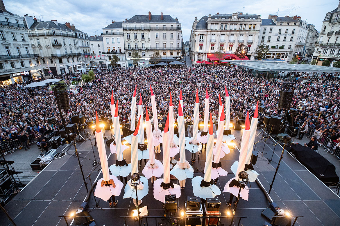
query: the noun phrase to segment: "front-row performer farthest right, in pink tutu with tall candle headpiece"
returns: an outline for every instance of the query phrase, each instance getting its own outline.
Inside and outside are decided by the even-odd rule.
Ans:
[[[233,168],[237,166],[235,177],[230,179],[226,183],[226,185],[224,186],[224,190],[223,190],[223,192],[230,193],[230,198],[229,198],[229,201],[227,202],[229,207],[232,206],[233,198],[234,196],[238,196],[239,187],[242,186],[238,183],[238,179],[239,179],[238,174],[239,172],[244,171],[245,159],[246,159],[247,150],[248,150],[249,136],[250,136],[250,123],[249,123],[249,112],[247,112],[247,116],[245,119],[245,128],[243,129],[243,134],[242,134],[240,156],[239,156],[238,162],[236,161],[231,167],[233,170]],[[248,186],[243,185],[241,188],[240,197],[244,200],[248,200],[248,194],[249,194]]]

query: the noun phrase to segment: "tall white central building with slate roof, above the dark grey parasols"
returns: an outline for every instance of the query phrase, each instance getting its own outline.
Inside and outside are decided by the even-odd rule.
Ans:
[[[128,67],[145,66],[155,55],[182,59],[181,23],[170,15],[135,15],[122,22],[124,49]],[[138,64],[133,63],[138,53]],[[151,61],[150,61],[151,60]]]

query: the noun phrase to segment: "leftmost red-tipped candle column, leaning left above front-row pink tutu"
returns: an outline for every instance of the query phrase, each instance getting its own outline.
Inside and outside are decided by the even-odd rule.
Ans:
[[[107,156],[106,156],[106,150],[105,150],[105,142],[104,142],[103,133],[100,130],[97,111],[96,111],[96,132],[95,132],[95,136],[96,136],[97,148],[98,148],[98,152],[99,152],[100,165],[102,167],[102,172],[103,172],[103,178],[104,178],[104,181],[109,181],[110,180],[110,173],[109,173],[109,170],[108,170]]]

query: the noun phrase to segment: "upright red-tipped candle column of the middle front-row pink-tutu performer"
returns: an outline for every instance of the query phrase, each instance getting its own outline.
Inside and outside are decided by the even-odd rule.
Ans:
[[[163,182],[165,184],[170,183],[170,143],[169,143],[169,113],[167,117],[167,122],[165,123],[163,130],[163,165],[164,165],[164,173],[163,173]]]

